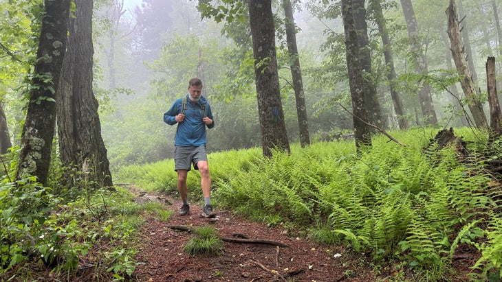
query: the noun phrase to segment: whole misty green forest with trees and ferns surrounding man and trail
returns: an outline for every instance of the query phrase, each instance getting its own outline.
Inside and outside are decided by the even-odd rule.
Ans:
[[[501,8],[0,0],[0,281],[157,281],[141,226],[177,215],[131,187],[179,208],[162,117],[190,78],[214,115],[215,209],[342,246],[371,281],[502,281]]]

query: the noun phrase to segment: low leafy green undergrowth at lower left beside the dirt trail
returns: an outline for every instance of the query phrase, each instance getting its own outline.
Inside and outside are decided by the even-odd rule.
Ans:
[[[47,275],[75,281],[87,268],[93,280],[127,279],[138,263],[141,215],[171,215],[160,203],[131,202],[131,192],[120,187],[80,191],[67,202],[34,180],[1,182],[0,281],[45,281]]]

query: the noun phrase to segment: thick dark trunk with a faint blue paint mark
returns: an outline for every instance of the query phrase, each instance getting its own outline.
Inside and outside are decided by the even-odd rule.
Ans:
[[[273,149],[288,153],[291,151],[279,89],[271,2],[272,0],[248,2],[261,141],[263,155],[268,157],[272,156]]]

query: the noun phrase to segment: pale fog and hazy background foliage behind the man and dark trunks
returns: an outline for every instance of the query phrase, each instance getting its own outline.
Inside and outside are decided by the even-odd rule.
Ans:
[[[102,136],[112,167],[173,156],[176,128],[164,124],[162,116],[175,99],[186,94],[188,80],[198,75],[203,75],[205,95],[215,113],[216,126],[208,130],[208,151],[261,146],[249,27],[245,21],[201,19],[197,3],[124,0],[122,7],[114,6],[120,11],[112,6],[97,12],[109,20],[108,25],[95,23],[95,78]],[[343,28],[339,16],[335,19],[335,5],[328,9],[313,3],[316,1],[302,1],[294,12],[296,41],[311,140],[331,141],[352,130],[351,115],[337,106],[351,106]],[[480,89],[485,89],[481,78],[485,56],[494,54],[493,43],[497,42],[494,25],[488,20],[493,14],[479,10],[474,3],[463,4],[468,14],[463,23],[469,24],[473,49],[470,58],[479,73]],[[448,93],[452,90],[446,89],[452,83],[448,80],[452,74],[446,69],[450,51],[444,42],[447,3],[417,0],[413,5],[428,71],[435,79],[444,80],[432,87],[439,124],[459,126],[459,112],[452,106],[455,98]],[[417,85],[423,82],[413,76],[402,10],[397,3],[384,8],[406,118],[412,126],[423,126],[417,103]],[[281,19],[281,7],[274,7],[274,12]],[[298,142],[298,121],[283,30],[280,24],[276,26],[279,78],[287,134],[294,143]],[[381,39],[373,21],[369,21],[368,34],[382,116],[389,129],[396,129]],[[457,91],[461,91],[458,85]]]

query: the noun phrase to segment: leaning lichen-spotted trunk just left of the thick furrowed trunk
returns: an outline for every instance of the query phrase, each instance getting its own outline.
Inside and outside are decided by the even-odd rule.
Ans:
[[[16,179],[32,175],[47,185],[56,123],[58,78],[66,51],[70,0],[45,0],[45,15],[36,51],[30,103],[21,136]]]

